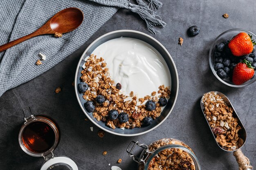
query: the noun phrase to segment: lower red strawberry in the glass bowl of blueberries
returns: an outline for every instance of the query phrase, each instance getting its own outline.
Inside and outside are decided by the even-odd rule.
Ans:
[[[251,79],[253,75],[254,67],[251,65],[251,62],[243,60],[243,62],[236,64],[233,71],[232,81],[234,84],[240,85]]]

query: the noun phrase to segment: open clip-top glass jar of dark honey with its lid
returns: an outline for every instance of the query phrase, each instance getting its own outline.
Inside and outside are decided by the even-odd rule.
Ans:
[[[28,117],[25,116],[27,111],[30,113]],[[45,159],[40,170],[78,170],[72,159],[53,154],[60,140],[56,122],[45,115],[33,115],[30,108],[25,108],[23,113],[24,124],[20,128],[19,144],[28,155]]]

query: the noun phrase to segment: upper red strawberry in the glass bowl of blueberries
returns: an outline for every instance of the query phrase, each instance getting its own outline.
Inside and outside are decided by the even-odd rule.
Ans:
[[[229,42],[231,53],[237,57],[252,53],[255,41],[252,40],[252,35],[247,33],[239,33]]]

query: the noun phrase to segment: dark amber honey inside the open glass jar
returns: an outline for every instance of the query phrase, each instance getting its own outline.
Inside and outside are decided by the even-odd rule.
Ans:
[[[31,152],[46,152],[52,148],[54,141],[54,130],[43,121],[31,122],[24,128],[22,133],[22,142]]]

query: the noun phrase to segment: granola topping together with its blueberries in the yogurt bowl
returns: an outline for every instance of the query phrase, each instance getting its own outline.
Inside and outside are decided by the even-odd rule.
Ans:
[[[127,95],[120,91],[121,84],[116,84],[111,79],[102,57],[97,58],[92,54],[84,65],[78,90],[87,101],[85,110],[92,112],[98,121],[106,122],[112,129],[132,129],[143,124],[149,125],[161,115],[162,106],[167,102],[162,104],[159,99],[166,100],[170,97],[170,87],[161,85],[157,92],[153,91],[151,95],[137,98],[132,91]]]

